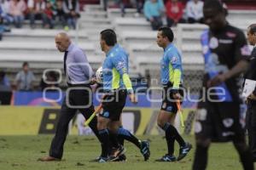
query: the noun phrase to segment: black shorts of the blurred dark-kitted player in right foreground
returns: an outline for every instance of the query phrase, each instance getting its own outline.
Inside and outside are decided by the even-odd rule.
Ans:
[[[201,102],[195,115],[195,136],[212,142],[245,142],[239,102]]]

